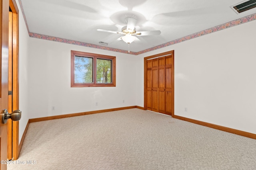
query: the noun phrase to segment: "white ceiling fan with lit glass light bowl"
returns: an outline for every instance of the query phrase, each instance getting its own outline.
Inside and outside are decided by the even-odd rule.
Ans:
[[[109,32],[109,33],[122,34],[124,36],[118,38],[117,40],[122,39],[128,45],[130,45],[130,43],[132,43],[136,39],[136,37],[134,35],[145,36],[145,35],[160,35],[161,34],[160,30],[136,32],[135,25],[137,23],[137,20],[135,18],[127,17],[126,21],[127,21],[127,26],[122,27],[121,32],[109,31],[109,30],[105,30],[105,29],[97,29],[97,31],[104,31],[104,32]],[[129,50],[129,52],[130,52],[130,50]]]

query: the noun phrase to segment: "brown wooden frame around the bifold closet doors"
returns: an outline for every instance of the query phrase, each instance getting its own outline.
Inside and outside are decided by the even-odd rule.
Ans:
[[[171,116],[174,117],[174,50],[172,51],[167,51],[164,53],[156,54],[156,55],[151,55],[148,57],[144,57],[144,109],[147,109],[147,60],[149,59],[154,59],[154,58],[159,58],[159,57],[164,57],[167,55],[172,55],[173,57],[173,65],[172,65],[172,113]]]

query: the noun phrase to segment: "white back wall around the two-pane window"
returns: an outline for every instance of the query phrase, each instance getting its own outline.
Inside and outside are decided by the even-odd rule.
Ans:
[[[116,87],[71,88],[71,50],[116,56]],[[30,119],[136,106],[135,58],[133,55],[112,51],[30,38]],[[95,106],[96,102],[98,106]],[[54,111],[52,106],[55,107]]]

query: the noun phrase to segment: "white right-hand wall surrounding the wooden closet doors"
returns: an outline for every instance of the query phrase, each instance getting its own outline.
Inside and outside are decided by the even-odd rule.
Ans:
[[[174,50],[175,115],[256,134],[255,28],[251,21],[138,57],[142,63],[143,57]]]

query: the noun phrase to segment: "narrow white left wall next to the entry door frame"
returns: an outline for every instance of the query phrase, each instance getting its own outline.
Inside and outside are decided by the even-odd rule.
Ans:
[[[28,106],[28,30],[18,0],[16,4],[19,8],[19,109],[22,116],[19,121],[19,141],[24,133],[29,119]]]

